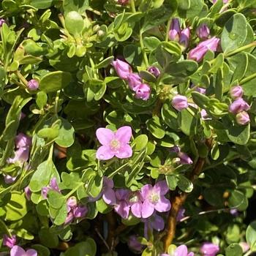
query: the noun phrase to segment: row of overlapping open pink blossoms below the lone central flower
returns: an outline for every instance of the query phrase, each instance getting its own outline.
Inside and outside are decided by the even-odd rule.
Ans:
[[[146,219],[154,213],[170,210],[170,200],[165,195],[169,191],[166,181],[158,181],[154,186],[144,185],[140,190],[113,189],[113,180],[104,177],[102,199],[113,206],[116,213],[123,219],[131,212],[137,218]]]

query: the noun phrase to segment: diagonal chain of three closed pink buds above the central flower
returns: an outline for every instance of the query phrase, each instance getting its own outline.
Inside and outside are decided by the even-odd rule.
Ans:
[[[148,84],[143,83],[140,75],[132,72],[132,67],[120,59],[112,63],[119,78],[127,81],[129,88],[135,92],[135,98],[148,100],[151,94],[151,88]]]

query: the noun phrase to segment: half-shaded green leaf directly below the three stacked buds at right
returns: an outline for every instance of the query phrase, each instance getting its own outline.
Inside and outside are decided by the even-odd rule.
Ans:
[[[246,145],[250,137],[250,126],[238,126],[237,124],[226,129],[227,137],[238,145]]]

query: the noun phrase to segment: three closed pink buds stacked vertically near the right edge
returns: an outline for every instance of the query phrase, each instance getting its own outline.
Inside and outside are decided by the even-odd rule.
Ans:
[[[233,86],[230,89],[230,96],[234,101],[229,106],[230,113],[236,115],[236,122],[241,125],[249,123],[249,114],[246,112],[250,109],[249,104],[242,98],[244,90],[241,86]]]

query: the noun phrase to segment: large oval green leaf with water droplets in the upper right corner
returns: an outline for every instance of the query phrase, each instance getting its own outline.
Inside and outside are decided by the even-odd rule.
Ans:
[[[227,53],[230,50],[235,50],[244,45],[247,36],[247,22],[244,15],[236,13],[233,15],[222,31],[221,44],[222,50]]]

